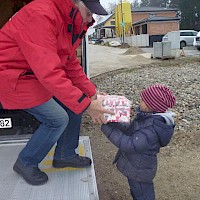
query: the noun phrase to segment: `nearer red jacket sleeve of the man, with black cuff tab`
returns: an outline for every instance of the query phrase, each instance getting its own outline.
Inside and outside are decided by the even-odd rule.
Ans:
[[[74,77],[75,84],[73,84],[72,80],[66,76],[57,54],[57,34],[56,22],[39,12],[31,13],[23,26],[14,33],[19,49],[39,82],[65,106],[79,114],[89,106],[91,101],[74,79],[79,75],[82,76],[82,81],[86,78],[79,73]],[[87,80],[87,85],[89,85],[89,80]],[[89,94],[88,91],[85,90],[85,92]],[[92,93],[94,89],[90,91],[90,95]]]

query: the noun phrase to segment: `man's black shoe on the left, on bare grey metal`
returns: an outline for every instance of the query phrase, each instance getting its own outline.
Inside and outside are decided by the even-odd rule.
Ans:
[[[48,181],[48,176],[38,167],[25,167],[19,159],[15,162],[13,170],[30,185],[43,185]]]

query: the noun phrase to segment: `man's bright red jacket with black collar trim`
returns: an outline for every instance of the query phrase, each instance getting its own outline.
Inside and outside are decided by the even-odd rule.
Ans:
[[[71,0],[34,0],[0,30],[0,102],[27,109],[59,99],[79,114],[96,86],[76,58],[89,24]]]

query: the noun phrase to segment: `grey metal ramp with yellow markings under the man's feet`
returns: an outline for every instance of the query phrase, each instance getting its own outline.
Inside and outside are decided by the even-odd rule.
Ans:
[[[84,169],[52,168],[54,148],[40,164],[49,181],[42,186],[28,185],[12,169],[26,142],[0,142],[0,200],[99,200],[94,165]],[[89,137],[80,137],[77,152],[92,159]]]

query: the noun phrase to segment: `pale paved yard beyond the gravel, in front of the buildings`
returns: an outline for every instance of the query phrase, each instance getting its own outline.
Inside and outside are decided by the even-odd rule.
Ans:
[[[144,53],[125,55],[128,48],[88,44],[89,77],[121,68],[134,68],[160,60],[151,59],[153,48],[141,48]],[[194,47],[184,47],[185,56],[200,56]]]

